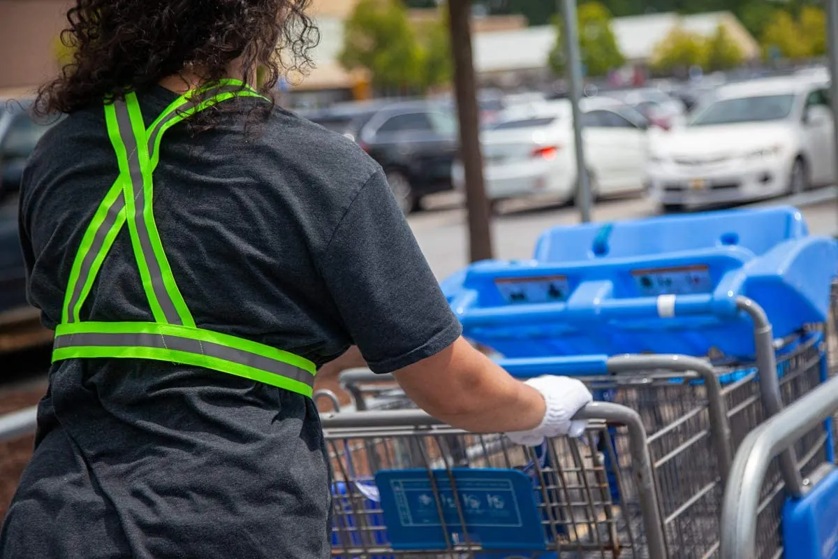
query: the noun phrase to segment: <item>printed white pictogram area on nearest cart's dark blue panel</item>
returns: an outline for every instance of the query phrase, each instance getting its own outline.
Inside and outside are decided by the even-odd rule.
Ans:
[[[475,528],[522,525],[515,489],[508,480],[463,479],[458,481],[457,495],[447,479],[437,479],[439,503],[427,479],[393,479],[391,489],[396,498],[402,526],[439,526],[439,509],[447,525],[458,525],[460,510],[466,523]]]

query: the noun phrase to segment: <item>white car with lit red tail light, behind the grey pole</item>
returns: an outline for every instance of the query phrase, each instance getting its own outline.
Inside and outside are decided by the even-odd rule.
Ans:
[[[644,188],[649,122],[612,99],[582,101],[582,137],[592,197]],[[562,202],[577,194],[570,102],[545,101],[505,111],[481,135],[486,195],[492,201],[547,195]],[[463,189],[461,163],[452,172]]]

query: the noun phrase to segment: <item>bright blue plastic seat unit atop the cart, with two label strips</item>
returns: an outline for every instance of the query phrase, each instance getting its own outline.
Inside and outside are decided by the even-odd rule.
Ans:
[[[736,298],[756,301],[778,338],[825,322],[838,243],[779,208],[561,227],[535,256],[442,282],[469,339],[506,357],[751,358],[753,323]]]

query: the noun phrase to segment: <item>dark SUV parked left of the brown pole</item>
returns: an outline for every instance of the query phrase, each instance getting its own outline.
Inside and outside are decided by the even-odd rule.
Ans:
[[[442,104],[415,101],[337,106],[308,119],[358,142],[384,168],[406,214],[422,196],[452,189],[457,120]]]

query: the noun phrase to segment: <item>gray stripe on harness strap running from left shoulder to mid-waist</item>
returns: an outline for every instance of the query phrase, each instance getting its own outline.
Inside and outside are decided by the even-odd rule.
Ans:
[[[163,272],[160,271],[160,263],[154,256],[152,248],[152,241],[148,237],[148,229],[146,227],[146,220],[143,219],[143,212],[146,203],[151,204],[151,200],[146,200],[144,189],[142,188],[142,168],[140,167],[140,158],[137,153],[137,138],[134,137],[134,131],[131,126],[131,116],[128,115],[128,108],[125,101],[116,101],[116,123],[119,126],[119,133],[122,137],[122,143],[125,144],[125,150],[128,156],[128,171],[131,179],[131,188],[134,193],[134,216],[127,216],[128,219],[133,219],[137,225],[137,237],[140,241],[140,251],[142,258],[146,261],[148,267],[148,274],[151,277],[152,289],[155,297],[160,303],[160,308],[163,309],[163,316],[170,324],[183,325],[183,321],[178,315],[178,310],[174,307],[172,299],[168,296],[166,286],[163,283]]]

